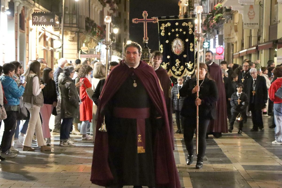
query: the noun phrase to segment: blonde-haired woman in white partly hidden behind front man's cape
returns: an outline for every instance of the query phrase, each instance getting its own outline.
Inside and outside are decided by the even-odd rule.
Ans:
[[[106,75],[106,68],[102,64],[102,62],[98,61],[94,64],[93,67],[93,78],[92,78],[92,89],[95,91],[99,81],[101,79],[105,78]],[[92,123],[90,127],[90,132],[93,133],[93,138],[95,138],[96,133],[96,123],[95,123],[95,116],[96,116],[97,106],[93,102],[93,108],[92,108]]]

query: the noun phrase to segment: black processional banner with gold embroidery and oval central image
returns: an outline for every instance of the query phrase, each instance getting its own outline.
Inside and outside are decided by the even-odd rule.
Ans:
[[[195,66],[195,19],[159,20],[158,30],[159,49],[163,54],[161,67],[175,78],[192,74]]]

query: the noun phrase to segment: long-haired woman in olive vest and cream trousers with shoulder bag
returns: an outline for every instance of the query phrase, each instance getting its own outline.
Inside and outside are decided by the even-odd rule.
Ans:
[[[43,106],[42,89],[45,87],[45,85],[40,84],[39,82],[40,63],[36,60],[32,61],[23,75],[26,76],[25,80],[27,81],[27,86],[23,94],[23,101],[25,103],[25,107],[30,113],[27,133],[25,140],[23,141],[23,151],[35,150],[31,147],[34,132],[36,134],[37,146],[41,147],[40,151],[49,151],[51,148],[46,145],[43,138],[41,120],[39,116],[40,107]]]

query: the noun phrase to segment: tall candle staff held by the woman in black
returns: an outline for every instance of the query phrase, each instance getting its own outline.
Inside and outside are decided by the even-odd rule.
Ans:
[[[201,13],[203,12],[203,7],[198,5],[196,7],[197,12],[197,32],[194,32],[193,34],[195,37],[197,37],[197,86],[199,86],[199,64],[200,64],[200,42],[202,40],[202,37],[206,33],[202,33],[201,30]],[[197,92],[197,98],[199,98],[199,92]],[[199,106],[197,106],[197,116],[196,116],[196,152],[198,154],[198,148],[199,148]]]

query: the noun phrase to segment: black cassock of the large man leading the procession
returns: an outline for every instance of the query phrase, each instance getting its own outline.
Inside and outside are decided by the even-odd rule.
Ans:
[[[133,87],[134,80],[137,87]],[[146,89],[133,73],[114,94],[110,109],[148,108],[151,104]],[[106,124],[109,134],[109,165],[114,184],[155,187],[152,148],[154,131],[151,118],[145,119],[145,153],[137,153],[136,119],[111,116],[110,122]]]

